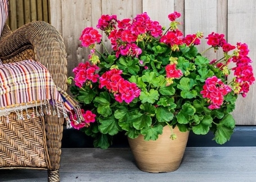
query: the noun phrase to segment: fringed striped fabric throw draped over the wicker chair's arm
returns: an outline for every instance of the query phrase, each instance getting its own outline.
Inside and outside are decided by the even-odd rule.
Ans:
[[[42,105],[46,106],[48,113],[42,113]],[[7,116],[8,120],[8,114],[15,111],[22,119],[21,111],[31,107],[40,115],[63,114],[68,121],[66,112],[75,110],[77,118],[83,120],[77,102],[55,86],[41,63],[23,60],[0,64],[0,115]]]

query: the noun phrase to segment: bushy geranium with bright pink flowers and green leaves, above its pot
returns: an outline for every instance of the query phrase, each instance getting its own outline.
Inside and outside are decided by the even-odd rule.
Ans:
[[[222,51],[223,58],[209,60],[197,51],[203,33],[184,36],[178,30],[180,16],[171,13],[164,30],[147,13],[133,20],[102,15],[97,28],[111,44],[104,52],[96,49],[103,44],[98,30],[83,30],[80,41],[91,54],[69,81],[74,80],[71,92],[84,122],[71,119],[70,124],[95,138],[95,147],[109,147],[121,131],[128,138],[142,134],[145,141],[155,141],[165,125],[196,134],[212,130],[219,144],[230,139],[237,95],[245,97],[255,80],[248,46],[228,44],[223,34],[213,32],[206,36],[208,51]],[[175,139],[176,133],[170,137]]]

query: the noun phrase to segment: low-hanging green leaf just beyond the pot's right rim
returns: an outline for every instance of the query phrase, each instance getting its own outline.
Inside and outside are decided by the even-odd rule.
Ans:
[[[195,134],[207,134],[212,126],[213,118],[211,116],[204,116],[203,120],[194,127],[192,127],[192,131]]]

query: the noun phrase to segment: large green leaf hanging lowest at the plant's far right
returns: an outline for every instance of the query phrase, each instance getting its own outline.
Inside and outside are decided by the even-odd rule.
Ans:
[[[215,141],[219,144],[224,144],[230,140],[233,134],[233,129],[235,128],[235,120],[231,114],[227,114],[224,118],[217,124],[217,130],[215,132]]]

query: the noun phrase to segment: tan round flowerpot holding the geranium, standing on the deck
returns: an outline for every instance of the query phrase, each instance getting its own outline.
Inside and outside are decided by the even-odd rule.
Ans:
[[[170,128],[165,126],[156,141],[145,141],[144,136],[128,138],[138,168],[146,172],[170,172],[178,169],[186,149],[189,132],[173,129],[177,138],[172,140]]]

